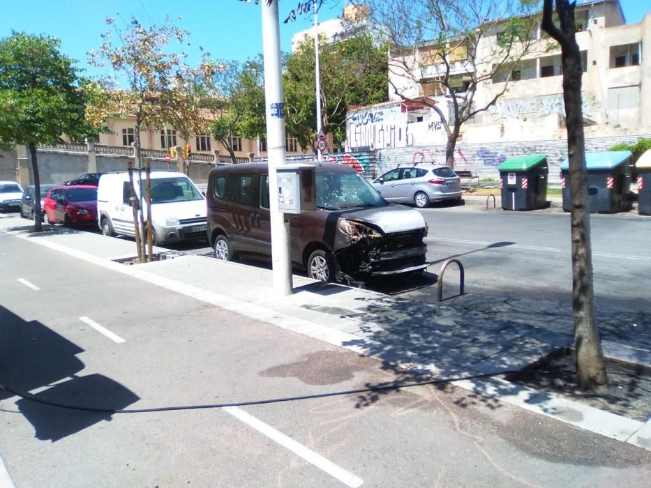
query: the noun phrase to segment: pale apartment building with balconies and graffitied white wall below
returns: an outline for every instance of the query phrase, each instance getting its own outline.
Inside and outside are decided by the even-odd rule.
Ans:
[[[651,132],[651,12],[638,24],[626,24],[618,0],[578,1],[576,40],[583,63],[582,96],[585,133],[599,135]],[[478,59],[495,52],[500,27],[488,31],[479,43]],[[484,107],[496,93],[504,93],[495,105],[463,125],[463,142],[516,142],[562,139],[564,103],[560,47],[540,28],[531,49],[517,66],[504,66],[477,86],[474,106]],[[399,59],[389,56],[389,98],[393,104],[355,107],[349,112],[347,148],[387,148],[444,144],[447,136],[440,117],[431,109],[405,107],[401,96],[412,100],[428,97],[451,120],[450,93],[436,83],[444,63],[427,56],[427,46]],[[452,91],[463,96],[472,66],[460,46],[449,53]],[[402,69],[402,71],[401,71]],[[489,72],[490,73],[490,72]],[[381,112],[377,116],[377,112]],[[391,135],[391,137],[387,137]]]

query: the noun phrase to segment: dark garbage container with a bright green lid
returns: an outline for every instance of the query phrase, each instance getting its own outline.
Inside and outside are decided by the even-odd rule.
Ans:
[[[500,188],[504,210],[547,206],[547,158],[544,154],[514,156],[502,162]]]

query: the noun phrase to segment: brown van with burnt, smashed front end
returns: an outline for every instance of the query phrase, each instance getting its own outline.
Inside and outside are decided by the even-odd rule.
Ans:
[[[360,281],[424,270],[427,226],[413,208],[389,204],[350,167],[314,163],[317,211],[290,220],[292,264],[322,281]],[[266,164],[211,170],[208,238],[215,257],[271,260]]]

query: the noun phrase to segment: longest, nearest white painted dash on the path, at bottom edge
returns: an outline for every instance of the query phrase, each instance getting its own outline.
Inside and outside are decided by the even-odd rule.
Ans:
[[[294,441],[290,437],[285,436],[282,432],[267,425],[261,420],[258,420],[253,415],[246,413],[244,410],[240,409],[237,406],[226,406],[223,408],[224,411],[230,413],[235,418],[241,420],[250,427],[253,427],[258,432],[269,437],[274,442],[282,445],[283,448],[294,452],[295,455],[298,455],[305,459],[307,462],[314,464],[317,468],[320,468],[322,471],[325,471],[333,478],[341,481],[344,485],[348,487],[360,487],[364,480],[358,478],[350,471],[346,471],[341,466],[337,466],[334,462],[331,462],[329,459],[324,458],[322,455],[317,454],[313,450],[306,448],[304,445]]]

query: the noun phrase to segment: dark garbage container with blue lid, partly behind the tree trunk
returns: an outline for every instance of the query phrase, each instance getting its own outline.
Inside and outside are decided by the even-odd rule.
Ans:
[[[585,153],[588,170],[588,208],[590,213],[622,212],[631,208],[631,151]],[[571,210],[569,195],[569,159],[560,165],[563,210]]]

